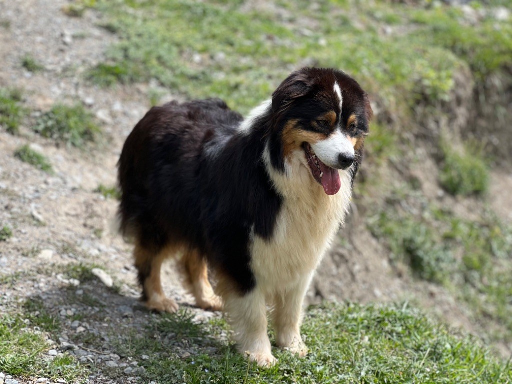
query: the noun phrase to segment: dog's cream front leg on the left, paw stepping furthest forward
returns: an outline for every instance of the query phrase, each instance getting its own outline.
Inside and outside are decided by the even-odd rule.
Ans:
[[[267,334],[267,307],[263,294],[258,290],[244,296],[228,292],[223,294],[223,298],[240,353],[248,354],[249,359],[260,367],[273,366],[277,360],[272,355]]]

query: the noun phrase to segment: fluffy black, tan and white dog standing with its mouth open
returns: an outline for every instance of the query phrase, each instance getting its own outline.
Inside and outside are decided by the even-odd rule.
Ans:
[[[181,254],[197,305],[224,307],[241,353],[275,364],[269,309],[278,346],[305,356],[304,297],[344,223],[372,115],[353,78],[316,68],[293,72],[246,119],[220,99],[152,108],[118,164],[146,306],[177,311],[160,268]]]

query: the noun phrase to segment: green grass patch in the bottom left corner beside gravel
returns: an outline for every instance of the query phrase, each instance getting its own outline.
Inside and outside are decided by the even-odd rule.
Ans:
[[[50,348],[44,334],[17,314],[0,316],[0,371],[17,377],[48,377],[67,382],[85,379],[85,371],[69,355],[43,358]]]

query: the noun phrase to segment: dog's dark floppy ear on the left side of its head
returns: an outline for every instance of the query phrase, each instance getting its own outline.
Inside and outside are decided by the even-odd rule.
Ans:
[[[312,89],[314,79],[309,68],[293,72],[272,94],[273,114],[285,112],[293,100],[306,96]]]

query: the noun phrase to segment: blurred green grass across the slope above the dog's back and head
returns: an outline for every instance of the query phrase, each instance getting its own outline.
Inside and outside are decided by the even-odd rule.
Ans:
[[[104,27],[121,42],[88,76],[103,86],[157,79],[173,92],[219,96],[247,112],[270,97],[291,68],[313,58],[316,66],[354,75],[389,108],[403,109],[425,96],[447,98],[454,71],[464,65],[451,50],[419,37],[382,36],[373,8],[364,4],[355,5],[364,33],[354,28],[345,4],[321,5],[312,12],[308,3],[280,2],[294,15],[286,24],[273,12],[241,12],[234,3],[98,1],[108,16]],[[403,17],[388,11],[382,23],[410,21],[407,8],[395,8]],[[301,18],[315,25],[307,35],[296,23]]]

